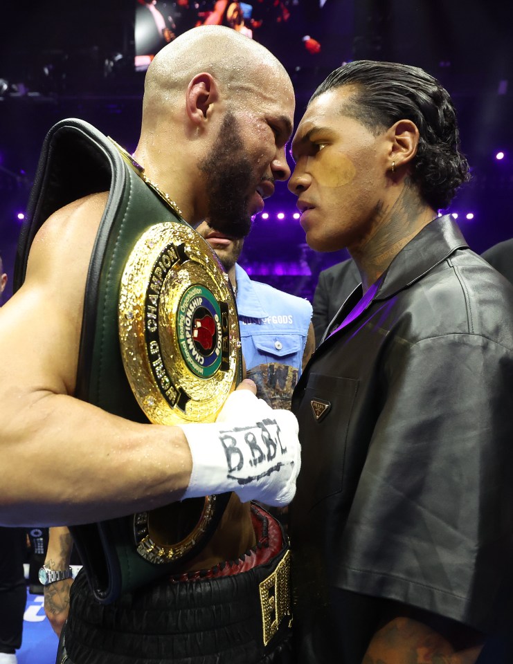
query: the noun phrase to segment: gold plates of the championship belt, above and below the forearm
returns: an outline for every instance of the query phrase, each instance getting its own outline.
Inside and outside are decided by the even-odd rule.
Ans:
[[[190,226],[159,223],[138,239],[121,279],[118,329],[129,385],[150,422],[215,421],[237,382],[239,323],[228,275]],[[207,496],[134,515],[139,555],[181,559],[215,504]]]

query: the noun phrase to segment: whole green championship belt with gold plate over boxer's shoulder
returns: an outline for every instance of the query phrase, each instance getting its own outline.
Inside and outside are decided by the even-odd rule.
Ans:
[[[213,422],[242,378],[228,275],[143,168],[87,122],[62,120],[46,136],[20,235],[15,288],[48,216],[107,190],[89,264],[75,396],[132,421]],[[213,535],[229,498],[187,499],[72,526],[96,599],[109,603],[183,570]]]

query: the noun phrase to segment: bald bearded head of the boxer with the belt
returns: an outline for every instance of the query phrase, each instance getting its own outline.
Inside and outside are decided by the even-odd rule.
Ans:
[[[241,237],[273,182],[290,174],[294,104],[267,48],[231,28],[192,28],[148,68],[134,157],[189,223],[208,217]]]

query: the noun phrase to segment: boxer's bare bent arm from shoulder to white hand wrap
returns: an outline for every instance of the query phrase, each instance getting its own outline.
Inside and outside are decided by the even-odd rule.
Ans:
[[[134,423],[71,396],[105,200],[82,199],[43,225],[24,286],[0,309],[1,524],[96,522],[169,504],[189,486],[180,427]]]

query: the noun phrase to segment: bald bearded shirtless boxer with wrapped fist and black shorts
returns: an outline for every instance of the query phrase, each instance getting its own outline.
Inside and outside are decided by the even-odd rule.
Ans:
[[[294,90],[276,58],[234,30],[205,26],[178,37],[150,64],[133,156],[77,120],[62,121],[48,133],[45,145],[49,142],[51,149],[42,152],[39,190],[21,236],[17,292],[0,314],[0,523],[60,526],[40,576],[57,631],[69,609],[60,664],[290,661],[287,538],[276,519],[251,499],[280,506],[294,495],[300,465],[296,418],[271,409],[255,397],[254,383],[242,380],[215,422],[150,425],[123,365],[116,364],[119,349],[109,347],[109,340],[118,340],[117,299],[124,287],[118,266],[125,253],[152,252],[159,228],[179,228],[186,240],[165,245],[174,253],[161,255],[161,267],[155,262],[160,275],[173,257],[186,270],[197,246],[205,246],[201,255],[207,267],[216,262],[190,225],[208,219],[231,237],[249,232],[275,181],[289,177],[285,145],[293,117]],[[66,200],[71,194],[63,190],[80,196]],[[150,228],[154,239],[140,246],[135,230],[147,232],[150,214],[157,216]],[[191,279],[192,289],[196,269],[183,273],[189,275],[183,283]],[[226,275],[217,270],[228,291]],[[137,268],[128,275],[137,278]],[[219,335],[219,347],[227,339],[225,318],[215,319],[221,321],[217,332],[214,313],[228,304],[201,288],[195,292],[203,293],[203,308],[194,304],[201,297],[187,300],[202,312],[190,314],[196,317],[190,347],[199,358],[198,372],[210,356],[195,350],[193,336],[206,339],[205,348],[209,334],[210,343],[213,334]],[[147,297],[148,302],[156,298]],[[147,310],[144,334],[154,329],[154,310]],[[132,317],[130,310],[123,320]],[[148,352],[156,352],[148,344]],[[130,361],[136,360],[137,354]],[[231,367],[228,360],[224,371]],[[130,365],[125,371],[134,375]],[[155,371],[163,380],[164,374]],[[143,380],[141,371],[134,372],[134,380]],[[89,403],[82,396],[84,376],[87,385],[98,380],[98,389],[87,392]],[[176,394],[186,412],[183,394]],[[150,407],[152,400],[144,404]],[[213,499],[205,501],[206,496]],[[168,522],[158,508],[172,503],[185,515],[180,510],[191,501],[182,504],[183,499],[205,505],[199,525],[190,524],[196,534],[165,548],[159,526],[165,531]],[[222,501],[226,507],[215,526],[213,514]],[[150,532],[152,539],[143,542],[151,546],[137,539],[125,542],[120,535],[125,516],[137,515],[129,539],[137,538],[148,510],[156,519],[156,534]],[[96,522],[101,522],[98,529]],[[186,524],[183,516],[183,523],[178,519],[174,525],[181,532]],[[84,569],[73,584],[67,525],[85,553]],[[117,537],[114,545],[107,535]],[[168,555],[169,568],[159,567],[154,551]],[[109,566],[100,569],[103,553]],[[145,583],[139,580],[143,575],[149,575]]]

